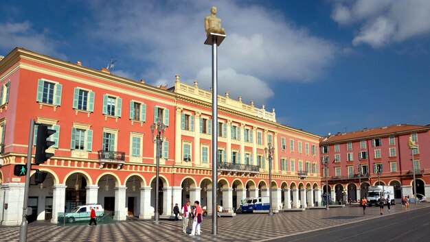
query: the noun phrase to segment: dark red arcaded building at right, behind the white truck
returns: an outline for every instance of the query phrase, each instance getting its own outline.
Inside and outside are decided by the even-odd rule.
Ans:
[[[409,149],[409,137],[418,149]],[[429,196],[429,147],[430,125],[399,124],[322,137],[321,159],[328,160],[332,200],[357,200],[366,195],[368,186],[381,184],[394,186],[394,198],[400,202],[402,196],[414,194],[414,170],[417,193]],[[321,174],[325,180],[325,167]]]

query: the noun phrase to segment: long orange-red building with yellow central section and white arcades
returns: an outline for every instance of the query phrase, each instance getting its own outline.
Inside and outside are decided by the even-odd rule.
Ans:
[[[13,168],[27,162],[31,119],[57,132],[49,149],[54,157],[38,166],[47,178],[30,186],[29,221],[56,223],[58,213],[80,204],[102,204],[120,220],[150,219],[156,192],[161,218],[187,199],[212,204],[212,189],[225,213],[234,213],[242,198],[268,196],[269,187],[274,210],[321,202],[320,137],[276,123],[275,110],[240,97],[218,96],[214,183],[212,97],[197,82],[184,84],[177,75],[174,87],[155,87],[16,48],[0,60],[0,85],[1,225],[21,223],[25,176],[14,176]],[[159,191],[150,128],[157,117],[166,125]],[[275,147],[271,184],[269,143]]]

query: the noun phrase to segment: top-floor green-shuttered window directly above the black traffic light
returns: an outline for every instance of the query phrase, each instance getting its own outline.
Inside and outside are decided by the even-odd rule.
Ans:
[[[2,89],[4,85],[2,86]],[[9,86],[7,87],[9,90]],[[39,79],[37,83],[36,101],[44,104],[61,105],[61,89],[63,85],[48,80]],[[3,91],[1,93],[4,94]],[[8,93],[6,94],[8,97]],[[3,99],[3,97],[2,97]],[[2,100],[3,101],[3,100]]]

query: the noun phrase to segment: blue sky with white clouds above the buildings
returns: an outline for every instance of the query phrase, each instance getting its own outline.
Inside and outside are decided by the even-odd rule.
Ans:
[[[146,84],[212,85],[204,17],[218,8],[218,95],[324,136],[430,123],[429,0],[0,0],[0,55],[23,47]]]

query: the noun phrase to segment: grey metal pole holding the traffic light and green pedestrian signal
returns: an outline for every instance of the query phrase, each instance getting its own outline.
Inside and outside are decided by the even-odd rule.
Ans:
[[[28,206],[28,191],[30,190],[30,170],[32,169],[32,149],[34,137],[34,119],[30,119],[30,134],[28,135],[27,149],[27,173],[25,174],[24,187],[24,205],[23,205],[23,221],[19,227],[19,242],[27,241],[27,206]]]

